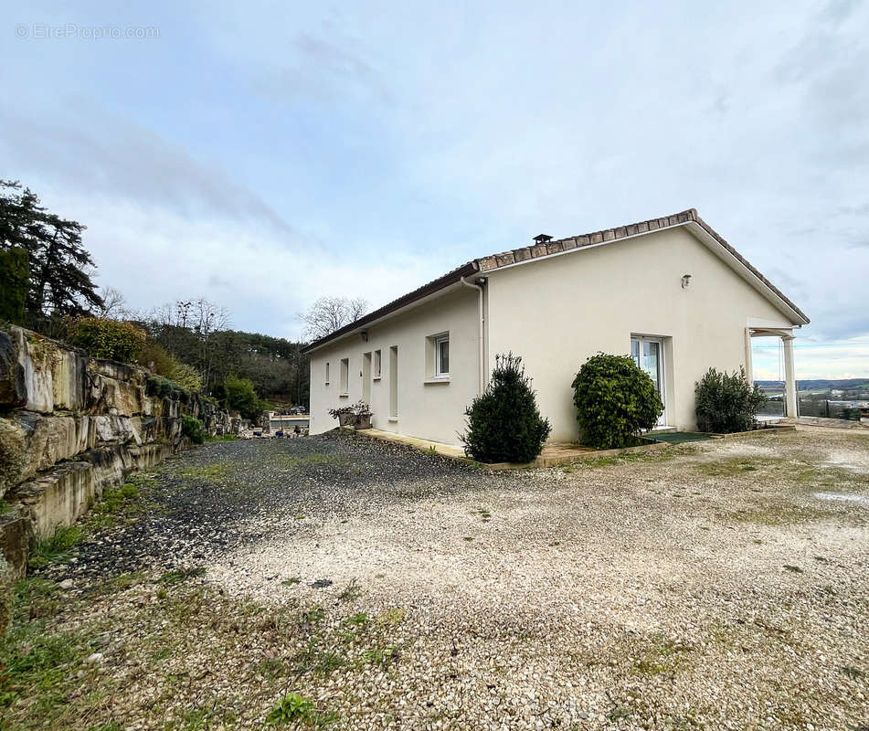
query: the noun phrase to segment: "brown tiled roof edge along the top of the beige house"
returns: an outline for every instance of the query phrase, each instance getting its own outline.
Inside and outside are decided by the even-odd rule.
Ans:
[[[681,213],[674,213],[673,216],[650,218],[647,221],[639,221],[638,223],[631,223],[627,226],[620,226],[618,228],[605,228],[601,231],[594,231],[593,233],[582,234],[581,236],[559,238],[557,240],[537,243],[532,246],[522,247],[521,249],[511,249],[509,251],[503,251],[500,254],[492,254],[483,257],[482,259],[469,261],[468,263],[461,265],[461,267],[447,272],[442,277],[429,281],[429,283],[422,285],[419,289],[408,292],[397,300],[388,302],[373,313],[368,313],[365,317],[356,320],[355,323],[344,325],[344,327],[340,330],[336,330],[333,334],[326,335],[320,340],[314,341],[305,348],[305,352],[309,352],[320,345],[326,344],[329,341],[350,333],[368,323],[373,323],[375,320],[379,320],[387,314],[396,312],[397,310],[406,307],[408,304],[416,302],[423,297],[427,297],[429,294],[433,294],[436,291],[448,287],[450,284],[460,281],[462,277],[468,277],[475,272],[479,271],[480,273],[485,273],[487,271],[501,269],[502,267],[521,264],[525,261],[552,256],[553,254],[560,254],[572,249],[597,246],[609,241],[616,241],[620,238],[630,238],[640,234],[652,233],[652,231],[658,231],[662,228],[673,228],[674,226],[683,226],[684,224],[692,222],[703,228],[709,236],[715,238],[715,241],[729,251],[734,258],[743,264],[747,270],[751,271],[758,280],[762,281],[771,291],[775,292],[783,302],[786,302],[788,306],[795,313],[799,314],[807,323],[809,322],[809,318],[806,314],[803,313],[796,304],[791,302],[775,284],[755,269],[755,267],[737,251],[737,249],[734,249],[730,244],[728,244],[725,238],[722,238],[714,228],[709,226],[703,218],[697,214],[695,208],[688,208]]]

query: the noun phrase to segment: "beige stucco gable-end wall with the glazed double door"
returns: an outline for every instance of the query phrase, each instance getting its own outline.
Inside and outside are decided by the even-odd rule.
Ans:
[[[691,274],[687,289],[682,276]],[[522,355],[552,441],[578,437],[570,387],[590,355],[627,355],[631,334],[666,338],[667,421],[694,429],[694,382],[746,365],[746,327],[792,323],[685,228],[491,273],[489,366]]]

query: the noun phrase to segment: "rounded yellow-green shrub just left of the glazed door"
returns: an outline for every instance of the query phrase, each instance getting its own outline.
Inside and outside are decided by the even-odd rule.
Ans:
[[[663,411],[661,395],[629,355],[592,355],[573,381],[583,444],[601,450],[630,447]]]

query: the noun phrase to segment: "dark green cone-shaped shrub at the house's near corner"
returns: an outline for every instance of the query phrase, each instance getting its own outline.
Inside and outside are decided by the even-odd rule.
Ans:
[[[498,355],[492,379],[465,411],[468,431],[460,435],[465,454],[481,462],[534,461],[552,427],[537,410],[522,358]]]

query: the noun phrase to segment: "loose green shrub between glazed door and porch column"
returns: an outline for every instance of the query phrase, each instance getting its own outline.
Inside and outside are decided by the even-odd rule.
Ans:
[[[728,374],[715,368],[694,384],[694,408],[697,429],[715,434],[747,431],[754,424],[758,409],[767,403],[767,396],[759,386],[748,383],[746,369]]]

